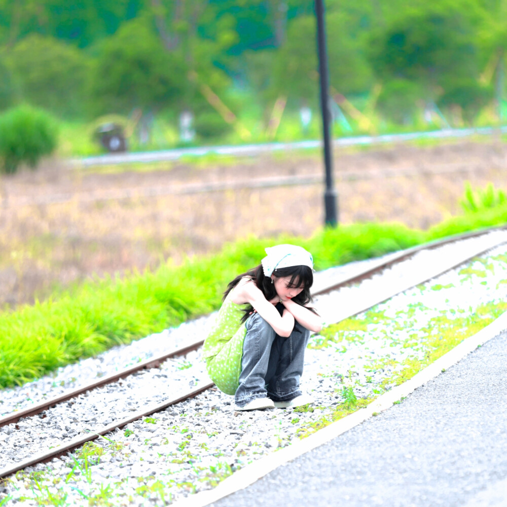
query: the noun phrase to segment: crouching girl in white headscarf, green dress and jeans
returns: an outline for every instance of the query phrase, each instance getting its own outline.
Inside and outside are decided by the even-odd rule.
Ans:
[[[321,319],[309,307],[313,259],[304,248],[266,248],[261,264],[232,280],[204,342],[211,380],[234,394],[236,410],[311,403],[300,390],[310,331]]]

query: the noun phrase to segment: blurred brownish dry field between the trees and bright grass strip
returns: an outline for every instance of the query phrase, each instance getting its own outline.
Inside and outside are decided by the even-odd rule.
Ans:
[[[340,223],[427,228],[460,211],[464,182],[505,188],[500,140],[347,149],[334,154]],[[0,306],[44,299],[93,275],[155,267],[247,235],[310,236],[323,185],[248,188],[323,173],[317,153],[78,169],[61,161],[0,177]],[[235,182],[235,190],[202,185]],[[194,185],[194,187],[189,187]],[[191,193],[178,194],[189,188]],[[200,191],[199,191],[200,190]]]

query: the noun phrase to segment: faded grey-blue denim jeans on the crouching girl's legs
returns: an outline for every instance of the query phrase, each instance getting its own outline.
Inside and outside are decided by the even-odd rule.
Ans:
[[[236,404],[244,407],[252,400],[266,396],[275,402],[299,396],[310,332],[296,322],[291,336],[278,336],[258,313],[252,313],[245,326]]]

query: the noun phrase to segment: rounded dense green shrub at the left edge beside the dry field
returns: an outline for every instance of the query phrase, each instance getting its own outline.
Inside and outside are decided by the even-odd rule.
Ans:
[[[35,168],[56,144],[56,122],[44,111],[20,105],[0,116],[1,171],[14,173],[23,163]]]

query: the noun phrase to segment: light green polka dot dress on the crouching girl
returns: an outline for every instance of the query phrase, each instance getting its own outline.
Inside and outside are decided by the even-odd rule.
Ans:
[[[246,335],[245,325],[241,323],[244,306],[233,303],[229,293],[204,340],[202,355],[206,359],[209,378],[226,394],[235,394],[239,387]]]

